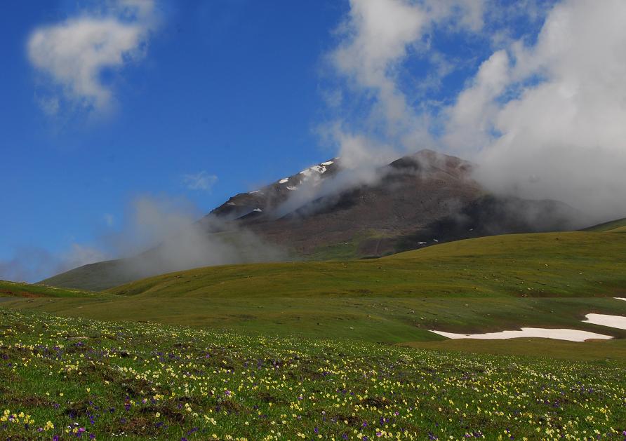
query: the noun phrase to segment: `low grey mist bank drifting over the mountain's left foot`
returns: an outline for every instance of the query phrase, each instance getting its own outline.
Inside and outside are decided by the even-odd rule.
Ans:
[[[128,205],[119,229],[100,231],[93,243],[72,243],[53,253],[21,247],[0,261],[0,279],[37,282],[55,274],[119,259],[107,268],[120,283],[156,274],[246,262],[272,262],[287,252],[251,231],[208,217],[184,198],[139,196]]]

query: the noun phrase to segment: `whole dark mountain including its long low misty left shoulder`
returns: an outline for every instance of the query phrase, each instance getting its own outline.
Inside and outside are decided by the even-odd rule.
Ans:
[[[81,266],[41,283],[103,290],[195,266],[380,257],[462,238],[574,228],[570,219],[578,213],[558,201],[488,194],[472,179],[475,167],[432,150],[369,170],[333,158],[232,196],[189,227],[191,239],[181,234],[142,255]],[[199,253],[198,246],[206,250]]]

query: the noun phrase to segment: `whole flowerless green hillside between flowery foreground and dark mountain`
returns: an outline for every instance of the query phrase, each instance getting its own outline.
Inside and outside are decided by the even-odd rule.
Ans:
[[[625,292],[626,235],[574,232],[462,240],[383,259],[194,269],[101,297],[16,299],[2,306],[248,334],[418,344],[444,341],[432,329],[521,326],[626,338],[624,330],[581,322],[587,313],[626,315],[626,301],[611,298]]]

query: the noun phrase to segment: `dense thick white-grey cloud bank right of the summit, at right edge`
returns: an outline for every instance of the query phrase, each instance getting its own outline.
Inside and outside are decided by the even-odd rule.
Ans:
[[[479,177],[495,191],[626,215],[625,22],[620,0],[555,6],[535,45],[484,63],[450,109],[448,146],[480,148]]]

